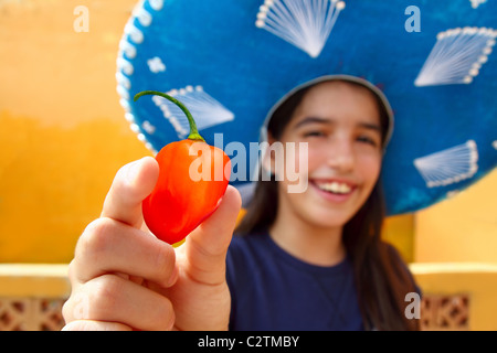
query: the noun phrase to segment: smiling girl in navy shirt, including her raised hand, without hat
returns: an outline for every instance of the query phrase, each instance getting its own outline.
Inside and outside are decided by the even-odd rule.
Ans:
[[[307,156],[285,162],[305,158],[308,188],[288,192],[292,181],[272,156],[274,176],[258,182],[240,236],[232,238],[241,197],[229,186],[218,210],[172,248],[142,222],[157,162],[125,165],[76,245],[66,330],[417,328],[404,315],[414,280],[380,239],[379,180],[392,130],[385,98],[362,79],[326,76],[273,111],[271,143],[307,143]]]

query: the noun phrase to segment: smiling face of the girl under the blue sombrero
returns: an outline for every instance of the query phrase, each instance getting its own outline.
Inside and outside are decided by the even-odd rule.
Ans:
[[[342,82],[311,87],[279,140],[308,143],[308,188],[288,193],[293,183],[279,181],[281,212],[317,227],[343,226],[366,202],[380,174],[382,136],[372,93]],[[299,158],[306,156],[297,153],[293,167],[303,165]]]

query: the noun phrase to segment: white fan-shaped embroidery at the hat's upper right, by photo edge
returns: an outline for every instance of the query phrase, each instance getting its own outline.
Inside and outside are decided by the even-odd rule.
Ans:
[[[441,32],[424,63],[415,86],[470,84],[495,45],[497,31],[457,28]]]

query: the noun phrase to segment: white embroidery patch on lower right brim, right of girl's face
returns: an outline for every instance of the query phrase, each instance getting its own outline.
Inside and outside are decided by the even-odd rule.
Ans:
[[[425,157],[414,165],[427,188],[444,186],[472,178],[478,170],[478,150],[474,140]]]

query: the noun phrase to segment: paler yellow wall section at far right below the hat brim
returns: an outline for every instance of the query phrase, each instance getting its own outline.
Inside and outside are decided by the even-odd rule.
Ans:
[[[448,201],[415,215],[417,263],[497,264],[497,169]]]

